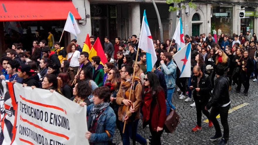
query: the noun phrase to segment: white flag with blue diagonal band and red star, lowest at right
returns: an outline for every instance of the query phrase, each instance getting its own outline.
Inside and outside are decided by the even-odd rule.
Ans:
[[[191,43],[186,44],[173,56],[180,70],[179,78],[191,77]]]

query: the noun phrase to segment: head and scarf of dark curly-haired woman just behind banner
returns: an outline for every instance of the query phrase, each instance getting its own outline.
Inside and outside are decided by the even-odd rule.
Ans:
[[[87,85],[86,81],[78,81],[73,88],[73,97],[70,99],[75,103],[86,103],[86,105],[90,105],[91,101],[89,100],[89,96],[91,95],[92,90],[89,85]]]

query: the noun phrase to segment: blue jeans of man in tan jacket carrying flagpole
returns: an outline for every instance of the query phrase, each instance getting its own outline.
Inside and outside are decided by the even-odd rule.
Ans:
[[[123,129],[124,127],[124,122],[119,121],[120,122],[120,127],[121,129]],[[147,144],[147,141],[140,136],[140,134],[136,133],[137,132],[137,127],[138,127],[138,122],[139,120],[135,120],[133,122],[127,122],[126,126],[125,126],[125,133],[123,133],[123,145],[130,145],[130,139],[129,137],[132,139],[133,138],[133,134],[135,135],[135,141],[137,141],[138,143],[145,145]],[[134,127],[134,130],[133,130]]]

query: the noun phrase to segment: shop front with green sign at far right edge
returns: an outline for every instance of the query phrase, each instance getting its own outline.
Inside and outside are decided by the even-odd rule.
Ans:
[[[247,31],[249,31],[251,34],[254,33],[254,13],[254,8],[245,8],[245,18],[241,19],[241,32],[244,35]]]

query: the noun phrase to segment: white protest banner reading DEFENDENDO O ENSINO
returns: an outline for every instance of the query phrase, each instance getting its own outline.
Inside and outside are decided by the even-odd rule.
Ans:
[[[4,81],[1,86],[5,104],[1,107],[0,144],[4,136],[4,145],[89,145],[84,137],[86,106],[49,90]]]

